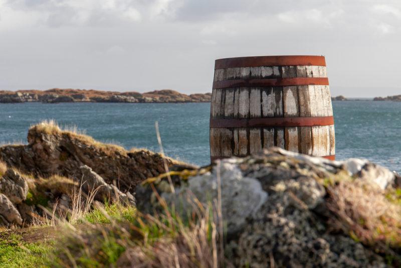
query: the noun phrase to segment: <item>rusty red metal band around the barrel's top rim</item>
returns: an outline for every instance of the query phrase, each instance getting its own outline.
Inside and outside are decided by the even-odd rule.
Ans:
[[[326,66],[323,56],[259,56],[218,59],[215,69],[259,66]]]

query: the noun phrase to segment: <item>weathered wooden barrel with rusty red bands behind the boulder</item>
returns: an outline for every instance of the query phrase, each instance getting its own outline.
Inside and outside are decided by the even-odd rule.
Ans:
[[[247,156],[273,146],[335,159],[325,58],[262,56],[216,60],[211,160]]]

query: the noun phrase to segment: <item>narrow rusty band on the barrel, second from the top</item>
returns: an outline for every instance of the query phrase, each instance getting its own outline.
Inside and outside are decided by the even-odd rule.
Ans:
[[[301,85],[329,85],[327,77],[294,77],[277,79],[235,79],[216,81],[213,89],[232,87],[267,87],[267,86],[301,86]]]

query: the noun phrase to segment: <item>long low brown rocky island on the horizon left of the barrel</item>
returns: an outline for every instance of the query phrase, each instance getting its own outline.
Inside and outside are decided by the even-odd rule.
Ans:
[[[212,93],[182,94],[171,89],[155,90],[146,93],[139,92],[115,92],[86,89],[60,89],[49,90],[0,90],[0,103],[21,102],[210,102]]]

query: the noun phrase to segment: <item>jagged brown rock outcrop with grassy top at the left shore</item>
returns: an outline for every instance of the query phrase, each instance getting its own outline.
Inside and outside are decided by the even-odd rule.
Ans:
[[[74,188],[84,194],[96,190],[99,201],[134,204],[136,185],[164,173],[164,163],[180,164],[40,123],[29,129],[28,145],[0,147],[0,226],[29,224],[54,205],[71,209]]]

